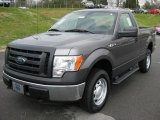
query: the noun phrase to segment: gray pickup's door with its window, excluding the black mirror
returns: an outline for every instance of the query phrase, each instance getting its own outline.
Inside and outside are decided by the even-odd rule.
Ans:
[[[117,34],[120,31],[124,31],[125,28],[131,27],[136,27],[136,25],[132,21],[130,14],[121,14]],[[115,44],[112,49],[112,54],[115,58],[114,73],[119,75],[137,62],[138,42],[137,37],[118,37],[113,42]]]

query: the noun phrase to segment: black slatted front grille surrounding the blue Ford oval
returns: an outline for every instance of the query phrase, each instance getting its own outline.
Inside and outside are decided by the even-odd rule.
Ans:
[[[8,48],[6,62],[7,66],[14,71],[47,77],[49,56],[48,52]],[[25,63],[17,63],[17,57],[26,58]]]

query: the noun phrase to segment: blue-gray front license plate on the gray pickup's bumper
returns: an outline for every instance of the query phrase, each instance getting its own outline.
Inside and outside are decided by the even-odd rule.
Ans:
[[[13,86],[13,90],[17,93],[20,93],[20,94],[24,94],[24,86],[19,84],[19,83],[16,83],[16,82],[12,82],[12,86]]]

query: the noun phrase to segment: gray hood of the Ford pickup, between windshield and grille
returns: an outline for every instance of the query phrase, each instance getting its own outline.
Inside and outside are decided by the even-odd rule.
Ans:
[[[104,38],[106,40],[106,38],[108,39],[110,37],[106,37],[106,35],[102,34],[46,32],[15,40],[11,42],[10,45],[73,48],[82,47],[84,45],[91,46],[92,44],[95,44],[95,42],[99,42]]]

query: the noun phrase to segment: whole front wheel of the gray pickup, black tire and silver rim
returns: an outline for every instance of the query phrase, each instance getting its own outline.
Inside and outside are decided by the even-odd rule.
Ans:
[[[84,96],[83,107],[90,113],[100,111],[106,103],[110,89],[110,79],[104,70],[93,69],[88,77]]]

